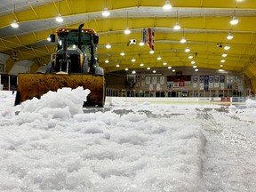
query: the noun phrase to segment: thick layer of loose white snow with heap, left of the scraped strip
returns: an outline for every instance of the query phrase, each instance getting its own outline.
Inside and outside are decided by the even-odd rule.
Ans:
[[[205,191],[195,108],[167,106],[164,119],[163,106],[135,103],[83,113],[86,95],[48,92],[0,116],[0,191]]]

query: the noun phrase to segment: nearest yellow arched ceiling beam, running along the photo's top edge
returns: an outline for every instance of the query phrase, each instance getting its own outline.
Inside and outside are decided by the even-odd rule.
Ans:
[[[58,4],[58,6],[56,6]],[[45,20],[51,19],[57,16],[60,12],[62,16],[76,15],[76,14],[84,14],[84,13],[93,13],[93,12],[101,12],[105,6],[105,0],[100,1],[89,1],[89,0],[66,0],[60,1],[58,3],[45,4],[43,6],[33,7],[33,9],[29,9],[22,12],[16,12],[15,15],[9,14],[1,17],[0,28],[6,28],[10,25],[13,20],[13,16],[17,18],[19,22],[26,22],[31,20]],[[72,4],[72,6],[70,6]],[[164,1],[156,1],[156,0],[129,0],[129,1],[112,1],[109,10],[115,11],[120,9],[129,9],[129,8],[140,8],[140,7],[156,7],[162,8]],[[256,2],[250,1],[236,4],[235,0],[182,0],[175,1],[172,4],[173,7],[176,8],[194,8],[194,9],[255,9]]]

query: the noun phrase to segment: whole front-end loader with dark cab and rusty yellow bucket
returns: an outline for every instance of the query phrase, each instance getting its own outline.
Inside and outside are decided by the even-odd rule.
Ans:
[[[104,106],[104,70],[100,68],[97,56],[99,36],[93,29],[83,27],[84,24],[79,28],[57,29],[57,51],[52,53],[45,73],[18,74],[15,105],[63,87],[83,86],[91,91],[85,106]],[[54,35],[51,41],[55,42]]]

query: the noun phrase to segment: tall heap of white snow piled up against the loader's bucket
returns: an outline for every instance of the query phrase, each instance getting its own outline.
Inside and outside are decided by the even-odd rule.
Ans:
[[[21,113],[39,113],[44,117],[69,118],[83,112],[83,104],[90,90],[83,87],[62,88],[57,92],[47,92],[40,100],[26,100],[21,104]]]

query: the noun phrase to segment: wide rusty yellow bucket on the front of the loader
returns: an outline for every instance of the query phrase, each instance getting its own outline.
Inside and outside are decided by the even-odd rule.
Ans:
[[[76,89],[78,86],[91,91],[84,103],[85,106],[104,106],[104,76],[82,74],[19,74],[14,105],[19,105],[20,102],[31,100],[34,97],[39,99],[44,93],[56,92],[62,87]]]

